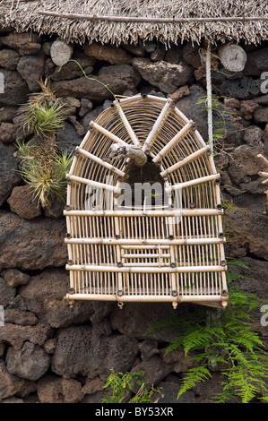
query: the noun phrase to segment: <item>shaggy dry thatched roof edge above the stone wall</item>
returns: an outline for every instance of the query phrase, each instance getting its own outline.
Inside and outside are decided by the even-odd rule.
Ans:
[[[40,14],[42,11],[77,16],[47,16]],[[200,43],[202,39],[258,44],[268,39],[267,11],[268,0],[0,0],[0,24],[20,32],[57,34],[67,42],[81,44],[93,40],[136,44],[150,39],[165,44]],[[79,15],[87,15],[87,19]],[[263,19],[251,19],[260,17]]]

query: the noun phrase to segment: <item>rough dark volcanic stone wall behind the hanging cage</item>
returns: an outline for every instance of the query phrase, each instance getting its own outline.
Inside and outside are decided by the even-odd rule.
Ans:
[[[17,172],[16,140],[22,131],[20,107],[30,92],[39,91],[40,78],[68,110],[57,135],[60,150],[72,151],[89,123],[109,107],[107,89],[83,77],[77,64],[59,69],[50,57],[54,39],[37,34],[0,34],[0,401],[101,402],[109,369],[145,372],[145,380],[160,386],[165,398],[177,402],[182,373],[193,365],[182,349],[164,356],[176,333],[158,329],[160,320],[195,311],[194,305],[135,303],[124,305],[77,302],[73,309],[63,297],[69,287],[65,271],[64,204],[41,209],[31,202],[29,188]],[[268,297],[267,214],[263,179],[258,172],[268,158],[268,94],[261,75],[268,71],[268,47],[245,47],[246,67],[229,73],[213,51],[212,85],[219,97],[214,110],[215,163],[221,175],[226,254],[246,264],[237,272],[249,279],[237,283],[261,300]],[[98,77],[115,94],[142,92],[174,99],[177,107],[207,138],[205,65],[202,47],[184,44],[166,49],[156,42],[139,46],[76,45],[73,59],[87,75]],[[264,86],[264,85],[263,85]],[[267,327],[255,313],[257,331],[268,349]],[[220,371],[186,392],[180,402],[210,402],[220,388]]]

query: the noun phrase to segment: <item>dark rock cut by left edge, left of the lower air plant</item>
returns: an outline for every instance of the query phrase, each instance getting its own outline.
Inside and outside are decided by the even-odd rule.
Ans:
[[[21,181],[18,169],[13,153],[0,142],[0,206],[8,198],[13,187]]]

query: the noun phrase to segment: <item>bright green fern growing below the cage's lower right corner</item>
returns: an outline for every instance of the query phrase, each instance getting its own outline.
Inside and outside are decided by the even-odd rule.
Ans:
[[[236,265],[246,267],[240,262],[229,262],[232,269]],[[225,310],[198,307],[195,313],[158,322],[151,328],[176,329],[179,335],[169,344],[166,354],[182,347],[197,363],[184,374],[177,398],[197,382],[212,377],[212,367],[222,365],[226,367],[220,370],[222,391],[212,399],[220,403],[230,399],[242,403],[255,398],[268,401],[268,355],[253,329],[251,316],[260,303],[255,295],[246,295],[233,285],[231,281],[238,278],[243,277],[229,272],[229,305]]]

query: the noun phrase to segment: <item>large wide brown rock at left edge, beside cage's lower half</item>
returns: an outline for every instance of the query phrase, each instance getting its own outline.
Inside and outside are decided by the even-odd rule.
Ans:
[[[23,271],[65,264],[65,219],[26,220],[0,211],[0,220],[0,263],[4,268]]]

